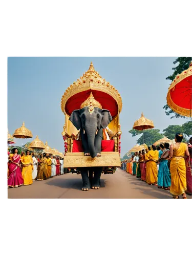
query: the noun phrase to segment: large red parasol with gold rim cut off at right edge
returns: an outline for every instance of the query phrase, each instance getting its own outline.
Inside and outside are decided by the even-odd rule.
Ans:
[[[181,116],[192,117],[192,61],[170,84],[167,105]]]

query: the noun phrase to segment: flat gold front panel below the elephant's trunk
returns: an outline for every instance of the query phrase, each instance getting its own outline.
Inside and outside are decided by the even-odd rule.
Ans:
[[[84,156],[84,153],[66,153],[63,161],[64,168],[75,167],[120,167],[120,157],[118,152],[101,152],[101,157],[92,158]]]

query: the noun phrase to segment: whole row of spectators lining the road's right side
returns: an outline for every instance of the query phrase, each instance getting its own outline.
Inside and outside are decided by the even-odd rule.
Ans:
[[[183,135],[177,133],[175,144],[148,146],[146,150],[135,152],[131,159],[121,162],[121,169],[136,176],[148,185],[170,190],[173,200],[182,195],[192,195],[192,137],[183,143]]]

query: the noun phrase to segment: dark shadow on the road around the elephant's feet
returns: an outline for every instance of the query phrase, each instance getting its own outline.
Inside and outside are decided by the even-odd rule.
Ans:
[[[46,183],[50,186],[57,186],[61,188],[73,188],[77,190],[81,190],[82,188],[82,180],[79,178],[71,178],[71,179],[53,179]],[[101,187],[105,187],[105,180],[101,179]]]

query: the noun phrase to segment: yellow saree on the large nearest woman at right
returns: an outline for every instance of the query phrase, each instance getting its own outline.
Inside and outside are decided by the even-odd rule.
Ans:
[[[181,142],[178,150],[174,147],[173,157],[170,161],[170,193],[179,196],[187,190],[186,165],[185,165],[186,144]]]

